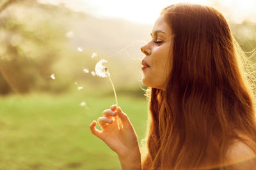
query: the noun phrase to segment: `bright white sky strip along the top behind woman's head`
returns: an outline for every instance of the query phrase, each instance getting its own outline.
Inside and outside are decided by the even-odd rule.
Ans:
[[[153,25],[161,10],[173,3],[200,3],[214,6],[227,20],[256,22],[255,0],[38,0],[41,3],[65,4],[75,11],[84,11],[99,18],[121,18]]]

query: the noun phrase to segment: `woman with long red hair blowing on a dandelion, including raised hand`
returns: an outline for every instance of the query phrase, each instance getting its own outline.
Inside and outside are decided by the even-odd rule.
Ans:
[[[219,11],[173,4],[141,47],[142,81],[150,87],[148,153],[115,105],[92,133],[118,154],[123,169],[256,169],[253,98]],[[120,117],[120,130],[116,120]]]

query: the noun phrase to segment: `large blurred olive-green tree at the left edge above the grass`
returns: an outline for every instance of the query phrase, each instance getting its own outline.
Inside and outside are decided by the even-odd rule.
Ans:
[[[49,12],[34,0],[0,7],[0,94],[49,90],[47,76],[65,39],[65,27],[44,17]]]

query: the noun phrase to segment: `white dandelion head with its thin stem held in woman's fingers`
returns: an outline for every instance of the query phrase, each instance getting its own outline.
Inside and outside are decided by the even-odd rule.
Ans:
[[[101,59],[99,62],[97,62],[96,66],[95,66],[95,74],[99,77],[108,77],[112,87],[113,87],[113,91],[114,91],[114,94],[115,94],[115,99],[116,99],[116,107],[118,107],[118,103],[117,103],[117,97],[116,97],[116,90],[115,90],[115,87],[114,87],[114,84],[113,84],[113,81],[111,80],[110,78],[110,73],[108,72],[108,69],[106,66],[103,66],[103,63],[107,63],[108,61],[107,60],[104,60],[104,59]],[[118,116],[116,116],[116,121],[117,121],[117,127],[118,127],[118,130],[120,130],[120,127],[119,127],[119,121],[118,121]]]

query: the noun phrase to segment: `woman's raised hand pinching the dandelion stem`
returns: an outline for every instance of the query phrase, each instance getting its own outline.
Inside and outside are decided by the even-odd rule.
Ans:
[[[118,130],[116,115],[118,115],[120,130]],[[136,132],[129,118],[122,112],[121,108],[116,108],[116,105],[112,105],[111,109],[103,111],[103,117],[98,118],[97,121],[102,131],[95,128],[97,123],[93,120],[90,125],[92,134],[102,139],[111,150],[118,154],[120,159],[124,159],[125,161],[140,159],[140,149]]]

